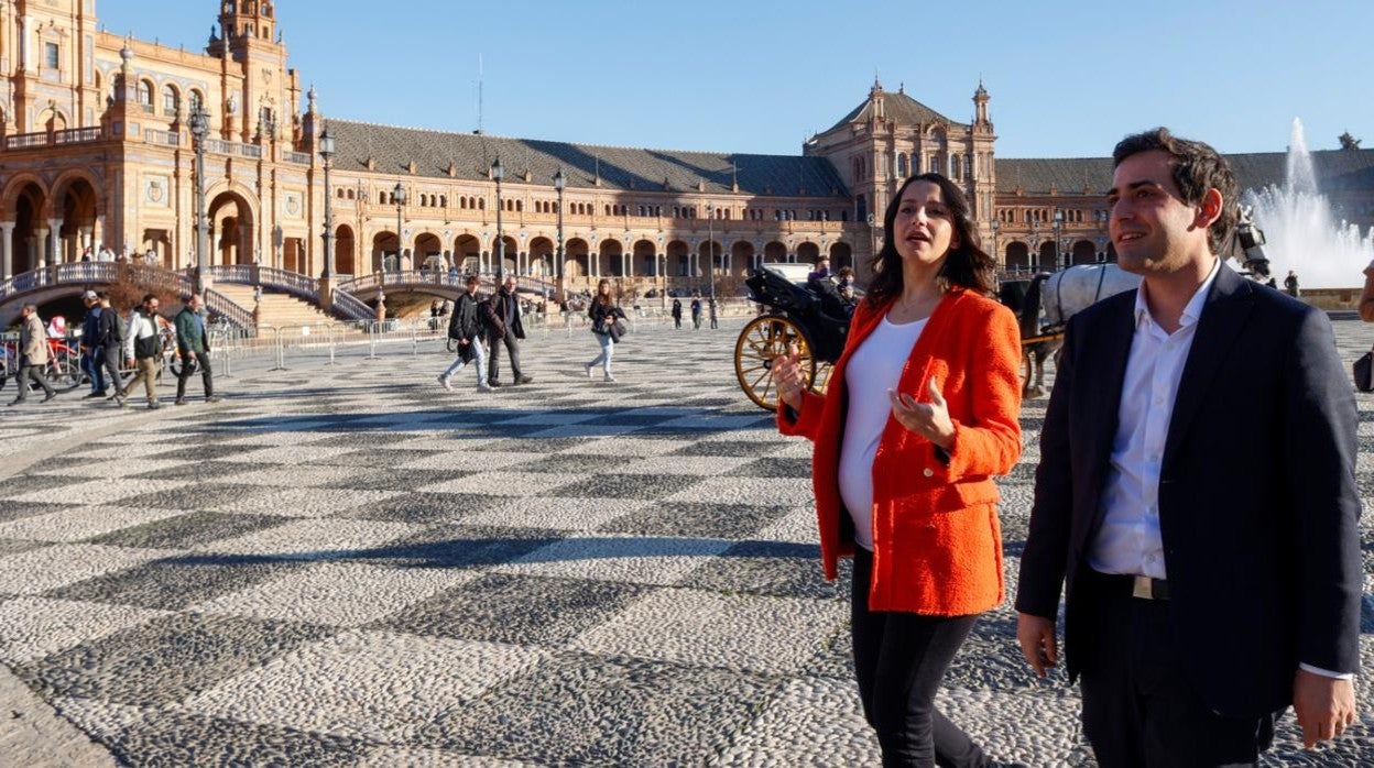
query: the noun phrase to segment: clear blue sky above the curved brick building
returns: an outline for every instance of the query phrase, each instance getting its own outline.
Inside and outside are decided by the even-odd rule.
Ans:
[[[217,8],[96,3],[113,32],[192,49]],[[800,154],[877,70],[958,121],[981,76],[1000,157],[1105,155],[1161,124],[1281,151],[1293,117],[1312,148],[1344,131],[1374,148],[1370,0],[279,0],[278,16],[326,114],[393,125],[475,128],[481,56],[484,128],[502,136]]]

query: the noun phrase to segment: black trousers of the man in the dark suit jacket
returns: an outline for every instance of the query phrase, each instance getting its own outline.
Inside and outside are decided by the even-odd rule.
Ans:
[[[1074,587],[1083,732],[1102,768],[1254,765],[1274,741],[1274,716],[1212,712],[1189,681],[1168,600],[1109,589],[1092,572]]]

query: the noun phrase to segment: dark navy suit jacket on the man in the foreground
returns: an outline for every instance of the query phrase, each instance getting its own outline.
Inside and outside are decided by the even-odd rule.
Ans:
[[[1135,291],[1069,321],[1040,438],[1017,610],[1054,617],[1076,676],[1074,578],[1102,489],[1134,332]],[[1184,363],[1160,479],[1169,614],[1208,705],[1292,702],[1298,662],[1359,666],[1356,409],[1326,315],[1223,265]]]

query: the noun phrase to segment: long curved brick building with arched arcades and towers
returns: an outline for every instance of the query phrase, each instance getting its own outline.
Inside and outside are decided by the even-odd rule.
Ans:
[[[1007,269],[1112,257],[1110,161],[999,159],[981,82],[966,124],[874,82],[800,155],[598,147],[326,120],[289,67],[269,0],[223,0],[199,51],[102,32],[95,10],[0,0],[4,278],[102,245],[195,265],[196,107],[210,117],[201,148],[214,265],[320,276],[328,258],[338,278],[503,269],[569,290],[611,278],[638,293],[712,275],[734,287],[760,262],[829,256],[863,279],[890,196],[927,170],[967,192],[984,247]],[[1282,158],[1234,159],[1242,183],[1261,185],[1282,181]],[[1374,151],[1315,159],[1369,225]]]

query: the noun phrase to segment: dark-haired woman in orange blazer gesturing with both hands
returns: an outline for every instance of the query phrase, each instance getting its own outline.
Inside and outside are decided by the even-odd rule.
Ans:
[[[883,765],[995,765],[933,702],[1003,599],[992,478],[1021,455],[1021,337],[948,179],[908,179],[883,225],[829,392],[804,386],[794,350],[775,361],[778,426],[816,444],[826,577],[855,558],[855,673]]]

